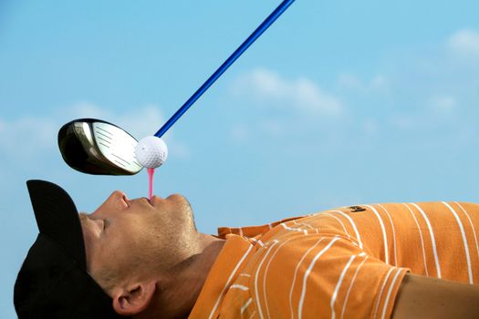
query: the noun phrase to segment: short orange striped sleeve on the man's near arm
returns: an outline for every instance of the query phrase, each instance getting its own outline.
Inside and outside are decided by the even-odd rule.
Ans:
[[[408,271],[347,238],[295,236],[258,253],[249,286],[258,317],[390,318]]]

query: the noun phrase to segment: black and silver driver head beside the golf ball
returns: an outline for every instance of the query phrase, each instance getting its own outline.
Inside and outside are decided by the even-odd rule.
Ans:
[[[58,131],[58,147],[72,169],[93,175],[134,175],[142,167],[136,160],[138,141],[104,120],[78,118]]]

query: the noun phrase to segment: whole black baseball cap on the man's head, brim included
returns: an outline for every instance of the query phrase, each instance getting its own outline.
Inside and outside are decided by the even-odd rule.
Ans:
[[[45,180],[26,182],[39,234],[16,277],[14,304],[22,318],[125,318],[87,273],[75,204]]]

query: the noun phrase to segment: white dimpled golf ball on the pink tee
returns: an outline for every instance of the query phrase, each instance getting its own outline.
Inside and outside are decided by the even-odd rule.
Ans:
[[[166,161],[168,147],[162,139],[155,136],[147,136],[138,142],[135,154],[142,167],[156,169]]]

